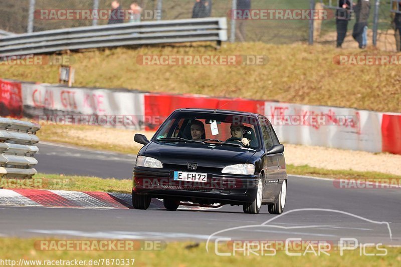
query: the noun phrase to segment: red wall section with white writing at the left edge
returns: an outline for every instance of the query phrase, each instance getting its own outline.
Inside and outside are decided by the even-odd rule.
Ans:
[[[0,80],[0,116],[22,117],[21,83]]]

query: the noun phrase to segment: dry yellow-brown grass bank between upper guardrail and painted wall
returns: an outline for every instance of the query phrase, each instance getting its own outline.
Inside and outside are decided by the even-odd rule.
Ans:
[[[259,66],[142,66],[140,55],[265,55]],[[117,48],[71,53],[75,86],[204,94],[401,112],[399,66],[338,66],[337,55],[388,55],[323,45],[225,43]],[[2,78],[58,83],[58,66],[0,66]]]

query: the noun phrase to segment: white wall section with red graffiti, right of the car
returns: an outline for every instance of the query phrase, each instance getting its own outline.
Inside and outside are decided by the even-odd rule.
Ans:
[[[265,102],[265,115],[281,142],[381,152],[382,113]]]

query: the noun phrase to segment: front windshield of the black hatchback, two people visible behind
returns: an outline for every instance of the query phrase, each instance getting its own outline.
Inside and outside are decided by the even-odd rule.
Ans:
[[[176,112],[156,132],[152,141],[216,143],[258,149],[257,121],[251,116]]]

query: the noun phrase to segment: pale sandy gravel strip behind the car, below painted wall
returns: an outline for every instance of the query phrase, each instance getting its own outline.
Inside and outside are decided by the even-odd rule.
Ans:
[[[140,149],[141,145],[133,141],[135,133],[141,133],[150,139],[154,132],[134,132],[132,130],[93,127],[89,129],[68,129],[65,138],[79,139],[83,144],[101,140],[107,145],[119,145]],[[64,132],[64,134],[66,134]],[[285,144],[287,164],[309,165],[311,167],[333,170],[377,171],[401,175],[401,155],[388,153],[369,153],[335,148]]]

